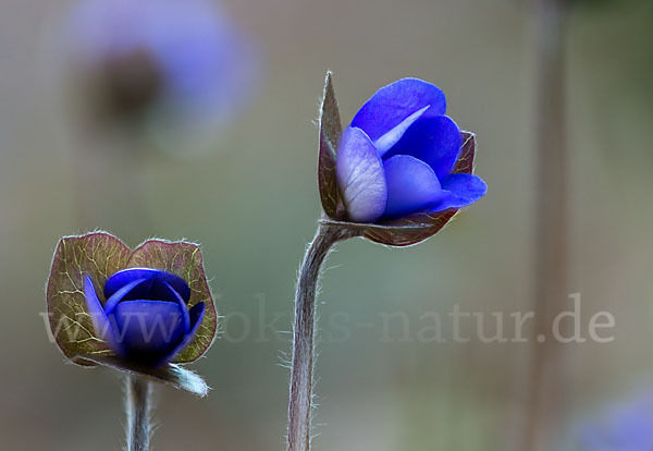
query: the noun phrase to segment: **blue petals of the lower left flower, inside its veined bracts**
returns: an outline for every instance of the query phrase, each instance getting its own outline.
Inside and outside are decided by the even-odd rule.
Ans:
[[[103,305],[86,273],[84,295],[96,334],[119,357],[141,366],[172,361],[194,339],[206,309],[204,302],[188,308],[190,289],[184,279],[151,268],[111,276],[103,287]]]

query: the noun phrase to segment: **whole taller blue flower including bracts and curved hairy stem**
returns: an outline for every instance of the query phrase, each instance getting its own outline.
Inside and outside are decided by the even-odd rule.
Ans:
[[[287,451],[310,450],[316,297],[333,245],[354,236],[396,247],[417,244],[485,195],[485,182],[473,175],[475,136],[445,112],[439,87],[402,78],[379,89],[343,132],[326,73],[318,157],[324,216],[295,293]]]

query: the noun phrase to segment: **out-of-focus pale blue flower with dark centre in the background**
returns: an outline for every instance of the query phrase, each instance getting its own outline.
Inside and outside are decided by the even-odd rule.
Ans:
[[[77,97],[100,120],[145,117],[159,134],[170,124],[196,134],[231,118],[255,90],[256,51],[206,0],[84,0],[66,25],[82,82],[74,88],[89,89]]]

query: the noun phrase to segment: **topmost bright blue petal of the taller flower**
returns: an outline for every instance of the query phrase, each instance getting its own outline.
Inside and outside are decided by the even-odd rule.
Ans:
[[[402,78],[379,89],[358,110],[352,126],[364,130],[375,142],[424,107],[429,107],[423,113],[426,118],[444,114],[444,93],[431,83],[418,78]]]

